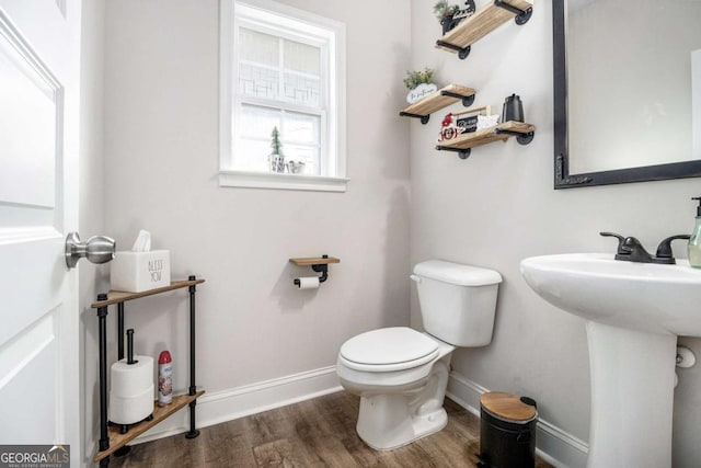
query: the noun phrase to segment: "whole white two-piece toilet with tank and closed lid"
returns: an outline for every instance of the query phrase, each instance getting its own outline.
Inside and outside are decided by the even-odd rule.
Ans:
[[[346,341],[336,373],[360,397],[356,430],[375,449],[401,447],[444,429],[450,356],[490,344],[502,275],[429,260],[414,266],[425,333],[407,327],[368,331]]]

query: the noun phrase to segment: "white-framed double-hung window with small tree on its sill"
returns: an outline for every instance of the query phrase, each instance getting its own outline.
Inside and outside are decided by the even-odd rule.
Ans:
[[[221,0],[220,31],[220,185],[345,191],[344,25]],[[301,173],[272,171],[274,128]]]

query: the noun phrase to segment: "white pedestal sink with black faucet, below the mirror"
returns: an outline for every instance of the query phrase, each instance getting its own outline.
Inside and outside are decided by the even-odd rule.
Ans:
[[[701,270],[573,253],[521,261],[543,299],[587,319],[590,468],[671,466],[677,335],[701,336]]]

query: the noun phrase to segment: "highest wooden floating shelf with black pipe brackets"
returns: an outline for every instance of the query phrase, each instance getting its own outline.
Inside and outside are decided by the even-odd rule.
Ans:
[[[448,31],[436,42],[436,48],[458,53],[461,59],[470,54],[470,46],[502,24],[516,19],[516,24],[526,24],[532,13],[529,0],[494,0],[478,10],[472,16]]]

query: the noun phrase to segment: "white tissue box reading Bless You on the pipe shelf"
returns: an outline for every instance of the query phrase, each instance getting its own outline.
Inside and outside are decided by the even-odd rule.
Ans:
[[[112,289],[142,293],[171,284],[171,252],[116,252],[112,261]]]

